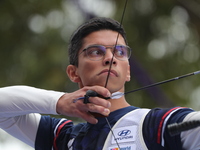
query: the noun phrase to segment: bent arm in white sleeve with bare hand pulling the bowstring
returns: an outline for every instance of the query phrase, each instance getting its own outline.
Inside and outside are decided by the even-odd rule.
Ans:
[[[110,96],[100,86],[84,87],[73,93],[43,90],[29,86],[0,88],[0,128],[34,147],[41,114],[62,114],[82,118],[90,123],[97,119],[89,112],[110,113],[110,102],[99,97],[90,98],[88,104],[73,99],[83,97],[87,90],[95,90],[104,97]]]

